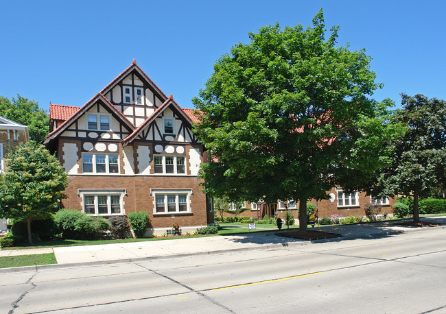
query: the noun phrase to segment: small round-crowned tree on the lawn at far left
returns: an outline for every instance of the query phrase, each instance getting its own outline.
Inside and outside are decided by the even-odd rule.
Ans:
[[[34,141],[17,146],[5,160],[6,172],[0,175],[0,217],[25,218],[32,243],[31,221],[58,210],[68,176],[56,156]]]

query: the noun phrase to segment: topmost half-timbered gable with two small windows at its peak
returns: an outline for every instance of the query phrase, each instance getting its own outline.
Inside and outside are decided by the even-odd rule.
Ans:
[[[141,125],[167,99],[135,60],[101,93],[136,126]]]

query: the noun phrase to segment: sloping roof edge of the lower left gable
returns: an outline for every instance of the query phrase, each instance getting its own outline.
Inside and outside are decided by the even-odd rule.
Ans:
[[[59,128],[57,128],[56,130],[54,130],[53,132],[48,134],[47,138],[45,139],[44,144],[49,143],[51,140],[56,138],[56,136],[59,136],[62,132],[64,132],[64,130],[66,130],[69,127],[69,125],[71,125],[71,123],[73,123],[74,121],[79,119],[80,116],[82,116],[82,114],[84,114],[94,104],[96,104],[97,101],[100,101],[105,108],[110,110],[110,112],[113,114],[113,116],[115,116],[115,118],[117,118],[122,124],[124,124],[124,126],[126,126],[126,128],[128,128],[128,130],[134,130],[134,128],[135,128],[134,125],[130,121],[128,121],[128,119],[124,116],[124,114],[122,114],[122,112],[117,110],[117,108],[115,106],[113,106],[113,104],[111,104],[110,101],[108,101],[108,99],[106,99],[106,97],[104,97],[104,95],[102,95],[101,93],[97,93],[92,99],[87,101],[86,104],[84,104],[84,106],[82,106],[78,110],[78,112],[75,112],[75,114],[73,114],[71,117],[69,117],[69,119],[64,121],[64,123],[62,123],[62,125],[60,125]]]

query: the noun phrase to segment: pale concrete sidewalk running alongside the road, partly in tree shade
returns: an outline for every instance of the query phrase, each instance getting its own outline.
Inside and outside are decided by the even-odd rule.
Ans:
[[[446,217],[423,218],[423,221],[435,221],[446,224]],[[446,226],[436,228],[446,228]],[[218,252],[238,250],[258,250],[288,245],[309,245],[311,243],[343,241],[349,239],[390,237],[395,234],[402,234],[412,230],[422,230],[422,228],[397,226],[395,225],[395,221],[383,221],[375,224],[321,226],[319,228],[314,228],[314,230],[339,233],[342,234],[342,238],[303,241],[280,237],[277,235],[277,230],[272,230],[271,232],[252,232],[231,236],[33,248],[26,250],[1,250],[0,256],[54,252],[58,265],[84,265],[92,263],[113,263],[117,261],[137,261],[148,258],[174,258],[190,254],[215,254]]]

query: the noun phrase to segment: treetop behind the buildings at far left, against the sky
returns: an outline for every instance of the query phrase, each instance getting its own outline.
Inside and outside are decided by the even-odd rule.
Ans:
[[[38,102],[21,95],[12,100],[0,96],[0,116],[28,126],[30,139],[43,143],[49,132],[49,117]]]

